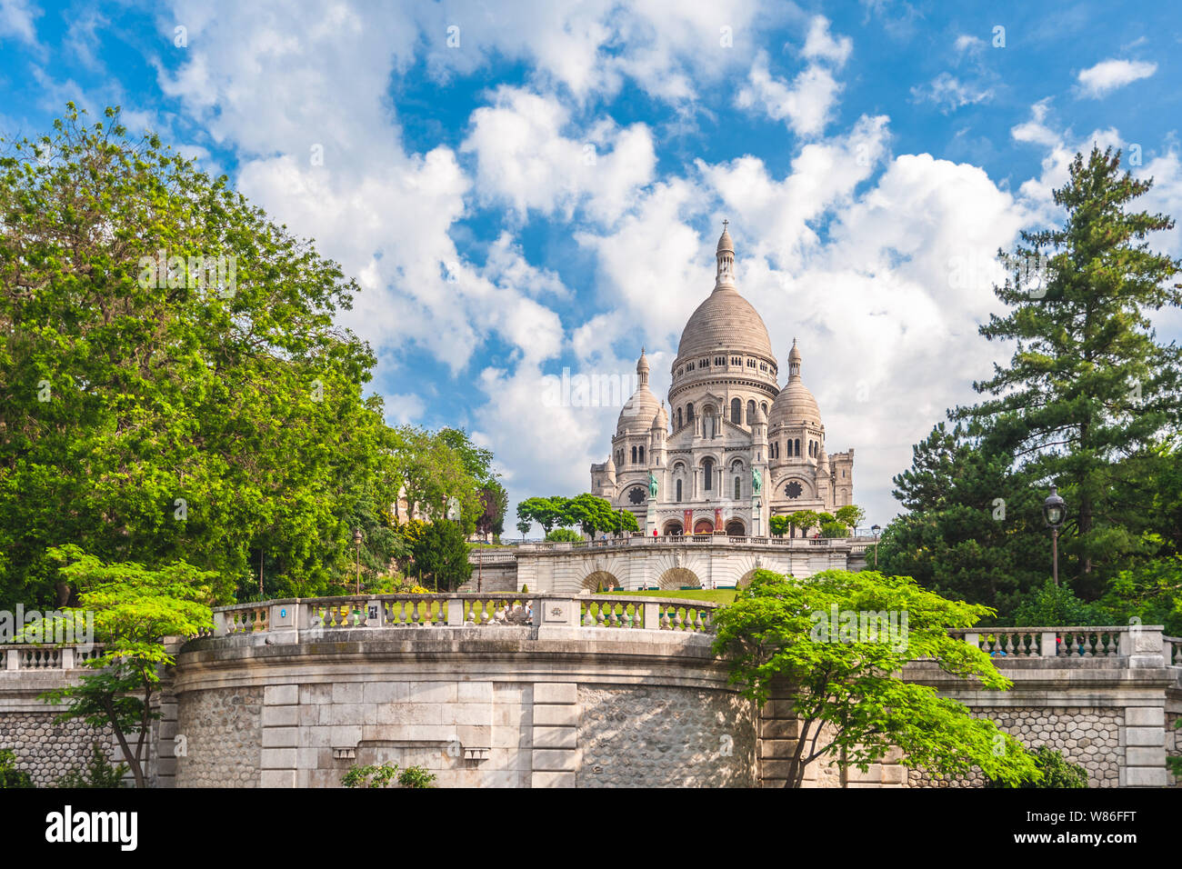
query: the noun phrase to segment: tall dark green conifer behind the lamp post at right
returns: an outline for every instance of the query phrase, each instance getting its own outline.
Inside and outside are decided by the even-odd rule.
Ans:
[[[957,408],[969,434],[1015,458],[1033,479],[1056,482],[1071,507],[1063,531],[1063,572],[1095,598],[1130,557],[1151,547],[1128,521],[1128,462],[1151,456],[1182,421],[1182,350],[1160,344],[1149,311],[1182,305],[1182,260],[1149,249],[1147,236],[1174,227],[1163,214],[1132,208],[1151,180],[1121,173],[1119,151],[1077,154],[1054,190],[1065,209],[1058,228],[1022,233],[1002,257],[1014,274],[995,293],[1011,306],[980,328],[1014,341],[1008,367],[974,383],[992,397]],[[1030,270],[1047,259],[1046,270]],[[1032,287],[1027,272],[1035,274]]]

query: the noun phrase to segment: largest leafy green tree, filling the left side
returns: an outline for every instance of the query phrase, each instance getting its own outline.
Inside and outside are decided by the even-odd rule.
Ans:
[[[0,596],[52,604],[63,541],[323,594],[397,494],[356,283],[117,109],[2,150]]]

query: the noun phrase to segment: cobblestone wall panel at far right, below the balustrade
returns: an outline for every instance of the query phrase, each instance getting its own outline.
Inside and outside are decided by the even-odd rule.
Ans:
[[[1087,771],[1090,787],[1116,787],[1119,784],[1119,767],[1124,759],[1124,748],[1117,735],[1123,721],[1119,709],[1074,707],[1056,712],[1045,707],[1019,706],[976,708],[973,716],[992,718],[1001,729],[1030,748],[1048,745],[1059,750],[1067,760]],[[907,783],[909,787],[982,787],[985,776],[978,769],[963,778],[910,770]]]

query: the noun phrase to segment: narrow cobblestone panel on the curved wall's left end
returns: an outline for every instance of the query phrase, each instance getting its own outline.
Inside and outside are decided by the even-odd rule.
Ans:
[[[262,688],[187,692],[178,700],[176,732],[187,745],[176,786],[258,787]]]

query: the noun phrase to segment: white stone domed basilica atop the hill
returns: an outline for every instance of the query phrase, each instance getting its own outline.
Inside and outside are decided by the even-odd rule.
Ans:
[[[668,408],[649,389],[642,350],[611,454],[591,466],[591,492],[630,510],[650,537],[764,537],[773,515],[853,502],[853,450],[825,449],[795,341],[780,388],[767,328],[739,294],[734,262],[723,228],[714,291],[682,331]]]

